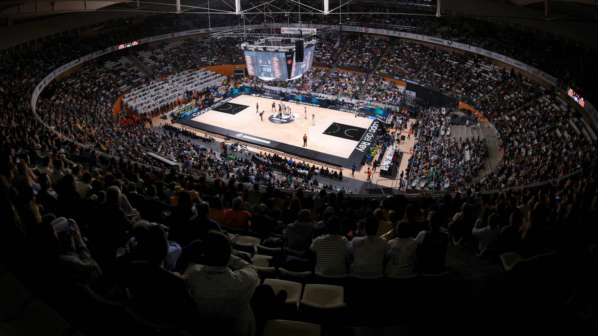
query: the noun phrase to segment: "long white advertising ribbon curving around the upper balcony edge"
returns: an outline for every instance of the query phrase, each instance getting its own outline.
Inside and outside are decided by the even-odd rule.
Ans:
[[[271,27],[272,25],[268,25],[268,26]],[[284,28],[284,26],[285,26],[285,24],[279,23],[279,24],[274,25],[274,28]],[[249,29],[249,28],[258,28],[258,27],[260,27],[260,25],[247,26],[246,28]],[[311,32],[312,29],[315,30],[318,28],[334,28],[334,27],[336,27],[336,26],[312,25],[311,28],[302,28],[301,30],[309,29]],[[212,28],[211,32],[223,32],[225,30],[231,30],[231,29],[237,29],[237,28],[241,28],[241,27],[240,26],[224,26],[224,27]],[[511,59],[510,57],[507,57],[507,56],[504,56],[504,55],[501,55],[498,53],[494,53],[493,51],[485,50],[480,47],[475,47],[474,45],[449,41],[447,39],[437,38],[437,37],[433,37],[433,36],[425,36],[425,35],[419,35],[419,34],[414,34],[414,33],[401,32],[400,30],[377,29],[377,28],[354,27],[354,26],[342,26],[342,29],[345,32],[362,32],[362,33],[371,33],[371,34],[377,34],[377,35],[396,36],[398,38],[415,39],[417,41],[446,45],[447,47],[453,47],[453,48],[469,51],[471,53],[483,54],[484,56],[499,60],[501,62],[508,63],[509,65],[512,65],[516,68],[522,69],[523,71],[529,72],[530,74],[535,75],[536,77],[547,81],[548,83],[550,83],[553,86],[559,85],[559,80],[556,77],[553,77],[553,76],[547,74],[546,72],[543,72],[539,69],[534,68],[533,66],[527,65],[526,63],[520,62],[518,60]],[[76,60],[72,60],[71,62],[66,63],[65,65],[61,66],[60,68],[54,69],[54,71],[51,72],[51,74],[48,74],[42,81],[40,81],[38,83],[38,85],[35,87],[32,95],[31,95],[31,108],[33,109],[33,111],[35,111],[35,103],[37,102],[39,93],[41,92],[41,90],[44,89],[44,87],[46,85],[48,85],[50,83],[50,81],[52,81],[54,78],[56,78],[57,75],[62,74],[62,72],[65,72],[68,69],[71,69],[72,67],[78,65],[81,62],[87,62],[96,57],[102,56],[103,54],[111,53],[112,51],[117,51],[117,50],[120,50],[123,48],[133,47],[133,45],[144,44],[144,43],[148,43],[148,42],[152,42],[152,41],[160,41],[163,39],[175,38],[175,37],[179,37],[179,36],[197,35],[197,34],[203,34],[203,33],[209,33],[209,32],[210,32],[210,30],[208,28],[202,28],[202,29],[186,30],[184,32],[168,33],[168,34],[163,34],[163,35],[158,35],[158,36],[152,36],[152,37],[148,37],[148,38],[139,39],[137,41],[132,41],[132,42],[129,42],[126,44],[114,45],[112,47],[108,47],[103,50],[96,51],[95,53],[91,53],[86,56],[79,57]],[[592,106],[591,103],[587,102],[587,101],[585,103],[584,109],[592,117],[592,119],[594,121],[594,126],[598,127],[598,111],[596,111],[596,109],[594,109],[594,106]]]

